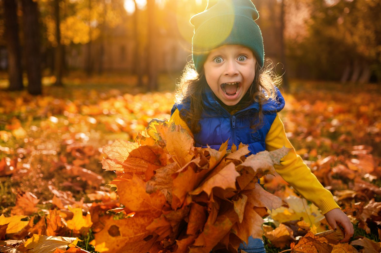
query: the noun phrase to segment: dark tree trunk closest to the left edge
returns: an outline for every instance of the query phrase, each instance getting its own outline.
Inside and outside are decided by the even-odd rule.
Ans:
[[[21,49],[19,43],[19,26],[17,22],[16,0],[5,0],[5,40],[8,50],[9,90],[20,91],[22,85]]]

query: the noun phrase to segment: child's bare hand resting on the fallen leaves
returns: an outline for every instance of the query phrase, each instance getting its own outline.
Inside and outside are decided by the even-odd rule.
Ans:
[[[351,220],[339,208],[332,209],[325,214],[325,219],[332,229],[336,229],[336,224],[340,224],[344,228],[345,236],[340,242],[348,242],[351,239],[354,229]]]

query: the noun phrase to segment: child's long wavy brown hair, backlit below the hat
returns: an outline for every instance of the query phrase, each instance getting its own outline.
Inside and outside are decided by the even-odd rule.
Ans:
[[[276,96],[275,87],[280,84],[282,78],[272,72],[272,63],[266,68],[261,68],[259,64],[255,66],[255,77],[253,83],[247,91],[247,94],[241,101],[234,106],[227,106],[219,101],[227,111],[237,111],[248,107],[253,102],[258,102],[259,111],[257,115],[252,117],[251,129],[256,130],[263,121],[262,106],[269,99],[274,99]],[[199,124],[200,117],[204,111],[203,94],[208,87],[203,69],[197,73],[193,62],[188,62],[184,67],[180,83],[176,84],[175,103],[182,104],[185,101],[190,102],[189,110],[181,110],[180,117],[188,124],[192,133],[198,133],[201,130]]]

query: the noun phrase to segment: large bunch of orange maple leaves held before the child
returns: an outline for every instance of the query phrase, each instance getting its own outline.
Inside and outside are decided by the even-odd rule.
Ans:
[[[100,252],[236,252],[250,235],[263,234],[267,209],[282,200],[266,192],[258,178],[274,173],[273,164],[288,149],[246,157],[247,146],[195,148],[188,132],[154,120],[136,142],[116,140],[103,148],[113,170],[124,211],[131,218],[109,220],[96,234]]]

